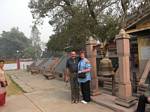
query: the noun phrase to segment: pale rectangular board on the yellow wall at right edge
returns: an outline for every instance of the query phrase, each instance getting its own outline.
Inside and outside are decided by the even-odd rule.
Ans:
[[[150,47],[141,48],[141,59],[142,60],[150,59]]]

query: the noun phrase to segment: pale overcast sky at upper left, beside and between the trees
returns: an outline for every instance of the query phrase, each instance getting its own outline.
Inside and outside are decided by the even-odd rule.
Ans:
[[[0,0],[0,34],[10,31],[12,27],[19,27],[28,38],[31,33],[32,15],[28,8],[30,0]],[[52,27],[45,19],[44,25],[39,27],[41,40],[47,42],[53,33]]]

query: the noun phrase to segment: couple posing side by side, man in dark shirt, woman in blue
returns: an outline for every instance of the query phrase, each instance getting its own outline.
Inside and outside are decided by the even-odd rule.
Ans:
[[[70,58],[66,63],[65,81],[70,80],[71,86],[71,102],[78,103],[80,100],[80,89],[84,104],[90,102],[90,80],[91,80],[91,64],[85,58],[85,52],[80,51],[80,57],[77,57],[75,51],[70,52]]]

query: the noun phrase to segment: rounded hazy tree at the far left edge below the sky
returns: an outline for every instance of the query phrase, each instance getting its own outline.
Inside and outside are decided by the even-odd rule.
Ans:
[[[17,51],[22,53],[30,45],[30,40],[18,28],[3,31],[0,37],[0,56],[16,58],[18,56]]]

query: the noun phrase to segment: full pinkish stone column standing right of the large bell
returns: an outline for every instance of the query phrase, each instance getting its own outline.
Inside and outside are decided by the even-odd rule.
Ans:
[[[119,58],[119,95],[115,103],[124,107],[130,107],[135,104],[135,98],[132,97],[130,82],[130,36],[125,30],[121,29],[116,36],[117,54]]]

